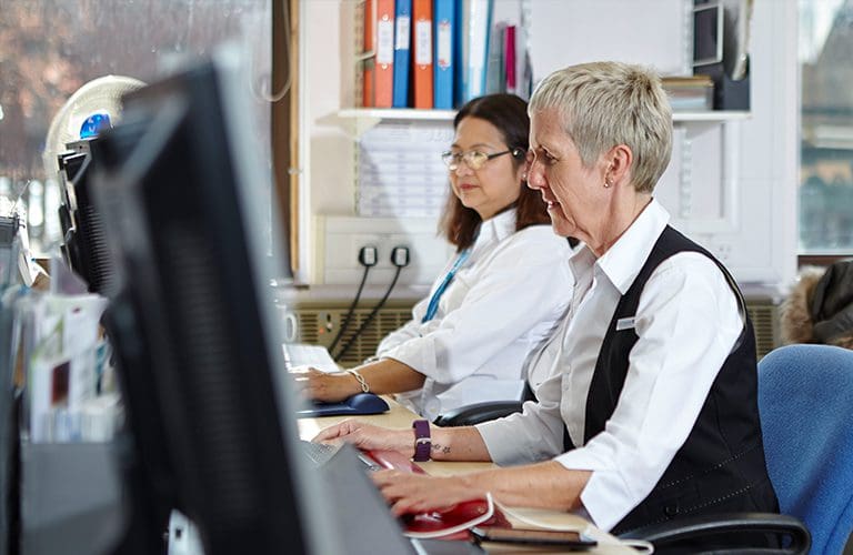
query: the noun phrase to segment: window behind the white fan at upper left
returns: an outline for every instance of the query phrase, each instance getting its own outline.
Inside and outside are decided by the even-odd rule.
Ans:
[[[54,114],[81,85],[107,74],[149,82],[179,59],[235,39],[257,54],[258,82],[247,93],[269,89],[267,0],[3,0],[2,6],[0,196],[21,198],[37,253],[59,240],[59,190],[43,168],[44,140]],[[258,129],[269,130],[269,109],[261,113],[267,121]]]

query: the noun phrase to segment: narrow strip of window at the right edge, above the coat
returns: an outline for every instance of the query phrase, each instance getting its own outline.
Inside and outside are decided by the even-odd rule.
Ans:
[[[853,254],[853,2],[800,0],[800,254]]]

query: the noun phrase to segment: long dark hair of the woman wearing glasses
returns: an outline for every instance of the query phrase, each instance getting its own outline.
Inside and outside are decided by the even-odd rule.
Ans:
[[[514,94],[488,94],[469,101],[463,105],[453,119],[453,129],[456,129],[465,118],[479,118],[485,120],[501,132],[503,141],[510,149],[520,149],[521,153],[513,157],[513,164],[518,169],[524,163],[528,152],[530,135],[530,118],[528,117],[528,103]],[[539,193],[526,186],[525,182],[519,184],[521,192],[515,201],[515,231],[529,225],[550,223],[545,203]],[[510,208],[510,206],[506,206]],[[471,246],[480,228],[480,214],[465,208],[452,192],[448,195],[448,205],[441,219],[440,230],[456,251]]]

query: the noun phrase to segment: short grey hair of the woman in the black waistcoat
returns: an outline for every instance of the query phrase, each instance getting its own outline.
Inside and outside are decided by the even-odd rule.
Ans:
[[[528,113],[555,108],[588,168],[615,147],[634,154],[631,181],[652,192],[672,154],[672,108],[653,70],[621,62],[592,62],[554,71],[530,99]]]

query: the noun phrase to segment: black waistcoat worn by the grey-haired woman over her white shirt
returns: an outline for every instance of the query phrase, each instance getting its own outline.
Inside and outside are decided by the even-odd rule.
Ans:
[[[586,397],[584,442],[602,432],[613,414],[625,382],[629,353],[639,339],[633,327],[616,331],[616,322],[636,314],[640,294],[658,265],[684,251],[702,253],[720,266],[737,295],[745,325],[714,380],[686,442],[649,496],[616,524],[615,534],[685,515],[779,511],[764,463],[755,337],[743,297],[720,262],[669,225],[619,301],[608,327]]]

